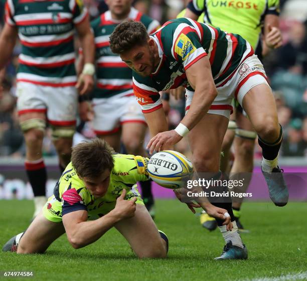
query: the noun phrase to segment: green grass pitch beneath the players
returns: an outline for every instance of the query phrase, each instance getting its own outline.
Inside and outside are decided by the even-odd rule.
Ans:
[[[0,201],[0,244],[23,231],[33,213],[31,201]],[[242,234],[249,250],[246,261],[214,261],[224,241],[209,233],[185,204],[157,200],[158,228],[169,237],[166,259],[137,259],[115,229],[96,243],[73,249],[65,235],[45,254],[0,253],[0,271],[33,271],[36,280],[252,280],[301,273],[307,279],[307,205],[245,203]],[[3,275],[3,272],[2,272]],[[289,275],[291,276],[291,275]],[[1,279],[16,279],[0,277]],[[291,280],[295,280],[292,278]],[[298,279],[298,277],[297,277]],[[272,279],[275,280],[275,279]],[[287,280],[287,279],[285,279]]]

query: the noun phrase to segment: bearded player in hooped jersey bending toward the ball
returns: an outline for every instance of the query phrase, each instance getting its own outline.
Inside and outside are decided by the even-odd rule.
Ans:
[[[148,36],[140,23],[124,22],[110,37],[110,47],[133,69],[134,95],[142,107],[152,139],[150,153],[168,149],[189,133],[197,172],[219,172],[220,151],[235,98],[247,112],[262,147],[262,169],[270,197],[278,206],[288,191],[277,166],[282,140],[275,101],[261,62],[241,36],[227,34],[188,18],[171,20]],[[186,116],[168,131],[159,91],[186,87]],[[279,171],[272,173],[273,171]],[[274,176],[273,176],[274,175]],[[208,203],[199,202],[208,212]],[[230,214],[233,230],[217,218],[226,246],[219,259],[247,258],[231,203],[213,203]],[[230,242],[230,243],[229,243]]]

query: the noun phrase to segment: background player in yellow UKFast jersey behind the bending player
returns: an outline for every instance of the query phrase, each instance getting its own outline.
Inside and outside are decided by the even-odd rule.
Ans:
[[[246,39],[255,54],[261,60],[270,49],[276,49],[282,45],[281,33],[279,30],[279,0],[240,0],[228,2],[228,5],[222,2],[196,0],[190,1],[187,9],[180,15],[193,20],[203,21],[213,27],[219,27],[228,33],[240,34]],[[263,34],[263,36],[261,36]],[[262,37],[262,40],[261,40]],[[235,188],[233,191],[245,193],[251,180],[253,171],[253,154],[255,139],[257,137],[246,113],[242,107],[235,102],[235,117],[229,121],[228,130],[225,134],[221,157],[222,172],[229,173],[232,179],[240,177],[244,173],[244,186]],[[230,169],[229,155],[232,142],[234,141],[234,162]],[[272,160],[272,159],[268,159]],[[243,229],[240,223],[242,200],[233,198],[233,213],[239,229]],[[200,216],[200,222],[208,230],[217,228],[216,220],[210,217],[206,212]]]

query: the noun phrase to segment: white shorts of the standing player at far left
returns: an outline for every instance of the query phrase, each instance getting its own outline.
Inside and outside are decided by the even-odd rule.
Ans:
[[[74,86],[51,87],[29,82],[17,83],[17,110],[22,115],[46,113],[54,126],[74,126],[77,114],[77,90]]]

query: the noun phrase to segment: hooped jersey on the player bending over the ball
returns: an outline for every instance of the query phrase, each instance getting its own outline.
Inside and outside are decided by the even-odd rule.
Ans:
[[[208,56],[215,85],[225,84],[247,57],[254,54],[250,44],[238,34],[188,18],[168,21],[151,35],[158,45],[161,61],[148,77],[133,72],[133,90],[143,113],[162,107],[159,91],[189,85],[186,70]]]

